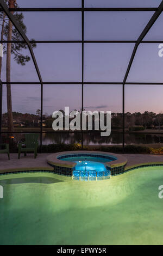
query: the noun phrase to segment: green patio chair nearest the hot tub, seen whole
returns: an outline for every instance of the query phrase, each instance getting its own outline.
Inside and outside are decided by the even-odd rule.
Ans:
[[[27,152],[34,152],[34,157],[37,156],[37,147],[38,147],[38,138],[39,134],[29,133],[25,135],[25,141],[18,144],[18,159],[20,159],[20,154],[24,153],[24,156],[27,155]],[[26,147],[23,148],[22,144],[25,144]]]

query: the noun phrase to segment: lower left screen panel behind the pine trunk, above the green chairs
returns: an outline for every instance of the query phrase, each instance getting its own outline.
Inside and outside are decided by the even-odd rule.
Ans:
[[[2,131],[8,131],[7,86],[3,85]],[[40,131],[41,87],[39,85],[11,86],[14,131]]]

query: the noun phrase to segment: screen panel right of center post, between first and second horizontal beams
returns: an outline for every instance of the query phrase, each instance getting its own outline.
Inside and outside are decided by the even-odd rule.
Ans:
[[[85,40],[137,40],[153,12],[86,11]]]

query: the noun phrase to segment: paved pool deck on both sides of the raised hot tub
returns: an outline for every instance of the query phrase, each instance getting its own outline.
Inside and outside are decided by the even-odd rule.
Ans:
[[[37,158],[34,159],[33,154],[28,154],[26,157],[21,156],[18,159],[17,154],[10,154],[10,160],[8,160],[7,154],[0,154],[0,173],[9,170],[53,170],[53,167],[47,163],[47,156],[50,154],[38,154]],[[163,155],[145,155],[145,154],[122,154],[126,157],[128,162],[126,168],[142,163],[163,163]]]

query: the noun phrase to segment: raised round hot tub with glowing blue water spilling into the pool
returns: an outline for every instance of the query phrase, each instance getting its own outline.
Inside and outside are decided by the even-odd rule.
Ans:
[[[68,151],[48,156],[47,162],[56,174],[92,181],[123,173],[127,160],[121,155],[100,151]]]

